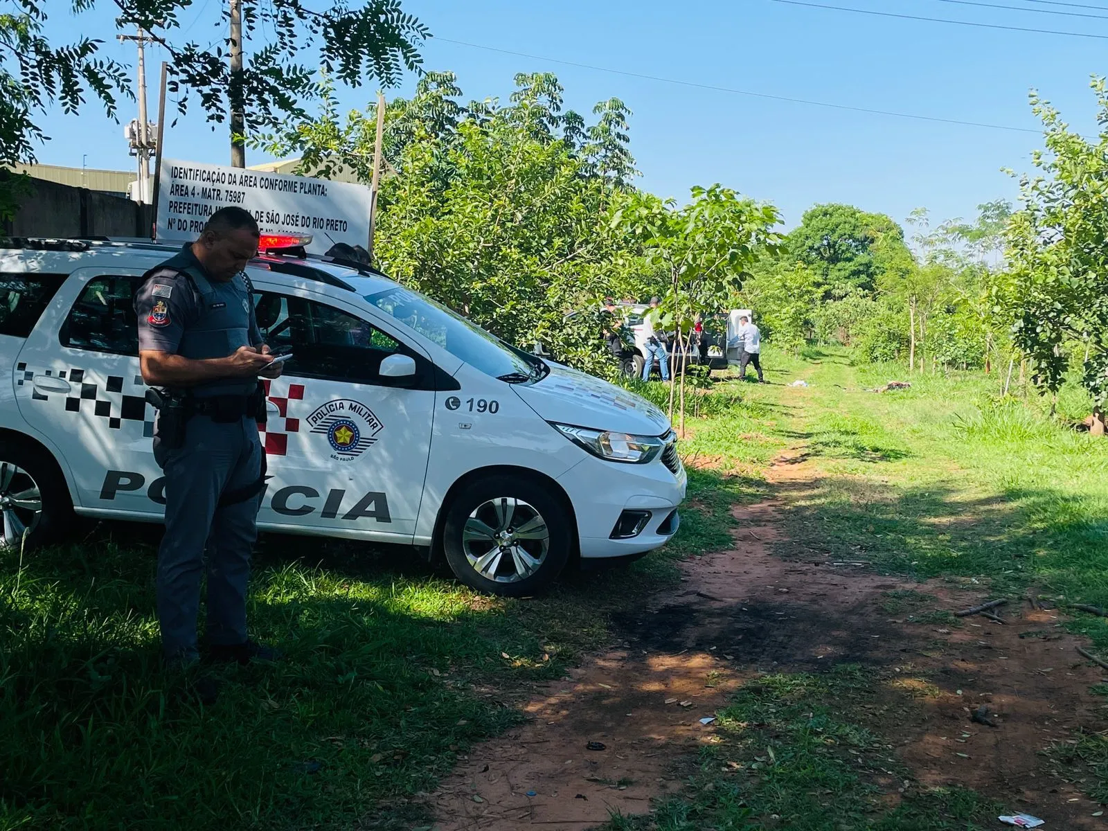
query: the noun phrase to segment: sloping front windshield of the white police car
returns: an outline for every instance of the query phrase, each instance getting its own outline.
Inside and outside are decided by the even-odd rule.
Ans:
[[[493,378],[524,383],[537,381],[550,372],[538,358],[509,346],[445,306],[402,286],[366,295],[366,300]]]

